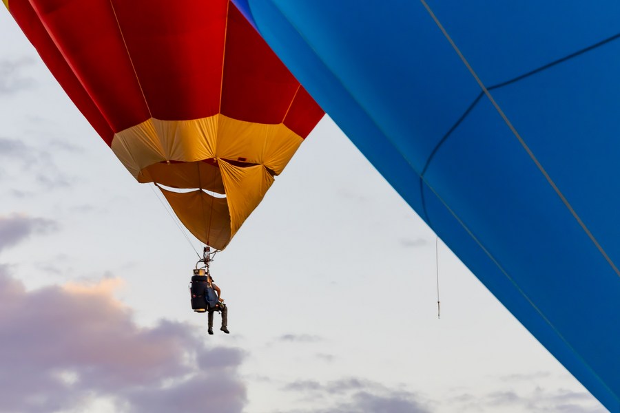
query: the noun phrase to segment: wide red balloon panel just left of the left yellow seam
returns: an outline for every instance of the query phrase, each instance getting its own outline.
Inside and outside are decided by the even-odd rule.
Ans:
[[[112,130],[147,120],[110,0],[30,1]]]

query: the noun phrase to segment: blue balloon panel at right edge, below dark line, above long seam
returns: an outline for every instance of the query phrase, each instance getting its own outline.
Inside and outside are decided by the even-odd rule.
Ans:
[[[620,40],[499,88],[493,96],[608,255],[620,264],[617,56]]]

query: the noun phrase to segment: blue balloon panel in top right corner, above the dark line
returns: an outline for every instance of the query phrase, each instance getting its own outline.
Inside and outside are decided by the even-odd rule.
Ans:
[[[487,87],[620,33],[617,1],[427,2]]]

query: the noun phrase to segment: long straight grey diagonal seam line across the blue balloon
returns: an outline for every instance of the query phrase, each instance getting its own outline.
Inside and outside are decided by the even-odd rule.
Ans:
[[[475,81],[478,83],[479,87],[482,88],[482,91],[484,92],[484,94],[486,95],[488,100],[490,100],[490,103],[493,104],[493,107],[495,107],[495,110],[497,111],[499,116],[502,116],[502,119],[504,120],[504,123],[506,123],[506,125],[508,126],[510,131],[513,132],[513,135],[515,135],[517,140],[519,140],[519,143],[521,144],[521,146],[526,150],[526,152],[528,153],[530,158],[534,161],[535,165],[537,166],[539,171],[541,171],[541,173],[543,174],[543,176],[547,180],[548,184],[551,185],[552,189],[555,191],[555,193],[557,193],[557,195],[559,196],[561,201],[564,203],[564,206],[568,209],[568,211],[570,211],[570,213],[572,214],[573,218],[575,218],[575,220],[577,220],[577,223],[579,223],[579,226],[581,226],[581,229],[583,229],[583,231],[586,232],[586,235],[588,235],[588,237],[590,237],[590,240],[595,244],[595,246],[598,248],[599,252],[603,255],[605,260],[607,260],[608,264],[610,264],[610,266],[615,271],[615,273],[620,277],[620,270],[618,269],[618,267],[614,264],[614,262],[611,260],[609,255],[607,255],[605,250],[603,250],[603,247],[601,246],[601,244],[599,244],[599,242],[597,241],[595,236],[590,232],[590,230],[588,229],[586,224],[581,220],[581,218],[579,218],[579,215],[577,215],[577,212],[575,211],[575,209],[572,208],[572,206],[570,205],[570,203],[568,202],[568,200],[566,199],[564,194],[559,190],[559,188],[557,187],[555,182],[553,182],[553,180],[551,179],[551,176],[547,173],[547,171],[544,169],[542,164],[536,158],[536,156],[534,155],[534,153],[530,149],[530,147],[528,147],[528,145],[526,144],[525,140],[521,137],[521,135],[519,134],[519,132],[517,131],[515,126],[510,122],[510,120],[508,119],[508,116],[506,116],[506,114],[504,113],[502,108],[499,107],[499,104],[495,101],[493,96],[490,94],[490,92],[488,91],[488,89],[484,85],[484,83],[482,83],[482,80],[480,80],[480,78],[478,77],[476,72],[473,70],[473,67],[471,67],[471,65],[469,64],[467,59],[465,59],[465,56],[462,54],[461,50],[459,50],[459,48],[457,47],[456,43],[454,43],[453,39],[448,34],[448,32],[446,31],[446,29],[444,28],[442,23],[439,21],[439,19],[437,19],[437,16],[435,16],[435,13],[433,13],[433,10],[431,10],[431,8],[428,6],[428,4],[426,3],[425,0],[420,0],[420,2],[424,6],[424,8],[426,8],[426,11],[428,12],[428,14],[431,15],[431,17],[433,18],[433,21],[435,21],[435,24],[437,25],[437,27],[440,28],[440,30],[444,34],[444,37],[448,40],[448,42],[450,43],[452,48],[458,54],[459,58],[464,63],[464,65],[467,67],[467,70],[469,70],[470,74],[473,76]]]

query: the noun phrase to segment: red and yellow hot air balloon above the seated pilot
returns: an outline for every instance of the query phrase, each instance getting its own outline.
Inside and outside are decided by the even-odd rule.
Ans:
[[[324,114],[227,0],[4,3],[132,176],[218,250]]]

